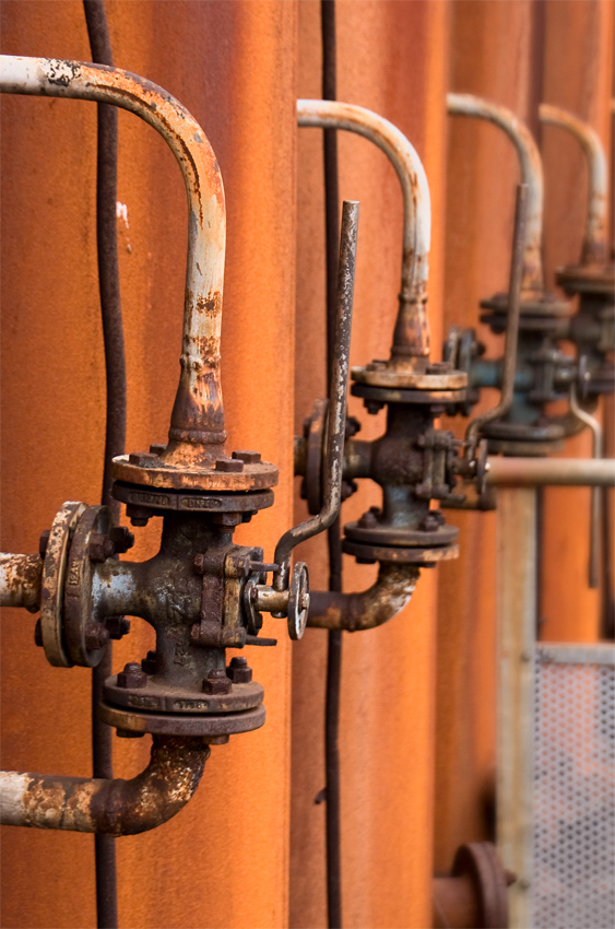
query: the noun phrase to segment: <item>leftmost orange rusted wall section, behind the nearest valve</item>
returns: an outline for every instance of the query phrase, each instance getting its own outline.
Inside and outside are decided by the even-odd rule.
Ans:
[[[109,2],[119,67],[175,94],[204,127],[228,208],[223,388],[229,447],[280,466],[275,505],[240,539],[269,556],[292,519],[296,15],[293,2]],[[87,59],[80,2],[5,2],[2,51]],[[129,449],[164,439],[179,372],[186,195],[150,127],[120,113],[118,199]],[[64,499],[97,503],[104,368],[96,283],[94,104],[2,101],[2,548],[32,551]],[[156,521],[156,520],[154,520]],[[135,557],[155,551],[138,530]],[[274,625],[272,621],[271,625]],[[141,624],[134,621],[134,626]],[[250,654],[258,732],[215,748],[179,816],[118,842],[120,925],[287,925],[289,643]],[[49,667],[34,618],[2,615],[2,764],[86,775],[90,672]],[[115,663],[141,657],[140,630]],[[115,740],[119,775],[147,739]],[[4,828],[2,925],[95,925],[91,836]]]

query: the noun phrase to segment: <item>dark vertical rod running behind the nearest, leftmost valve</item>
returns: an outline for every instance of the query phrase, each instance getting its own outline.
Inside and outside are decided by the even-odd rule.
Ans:
[[[83,0],[87,37],[95,64],[113,68],[114,57],[104,0]],[[119,522],[119,503],[111,495],[111,462],[123,455],[126,443],[126,357],[119,290],[117,247],[117,107],[99,103],[97,109],[96,149],[96,249],[98,257],[98,289],[105,343],[107,411],[105,424],[105,458],[102,503]],[[92,774],[111,780],[113,732],[98,718],[98,704],[106,678],[113,670],[111,644],[97,668],[92,671]],[[111,835],[94,836],[96,869],[96,921],[98,929],[115,929],[118,925],[116,840]]]

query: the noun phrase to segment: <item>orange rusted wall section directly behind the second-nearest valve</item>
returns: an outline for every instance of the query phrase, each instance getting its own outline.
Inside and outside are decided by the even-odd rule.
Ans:
[[[299,4],[299,94],[320,96],[317,2]],[[434,208],[430,319],[439,357],[442,294],[447,7],[358,0],[338,4],[338,96],[376,110],[424,160]],[[387,357],[400,285],[402,201],[394,170],[364,139],[340,133],[340,193],[360,200],[351,364]],[[301,129],[298,165],[297,418],[324,390],[322,133]],[[316,363],[314,362],[316,360]],[[350,409],[376,437],[383,413]],[[379,499],[360,482],[343,521]],[[299,503],[298,513],[305,513]],[[306,546],[307,550],[308,546]],[[307,554],[307,551],[306,551]],[[327,583],[324,546],[309,549],[314,586]],[[316,569],[318,566],[318,571]],[[438,568],[439,571],[440,568]],[[442,565],[441,571],[448,571]],[[364,589],[374,568],[344,562],[344,589]],[[412,604],[387,626],[344,635],[340,749],[342,880],[346,927],[430,925],[435,576],[425,571]],[[291,926],[327,925],[323,708],[327,634],[308,630],[293,651]]]

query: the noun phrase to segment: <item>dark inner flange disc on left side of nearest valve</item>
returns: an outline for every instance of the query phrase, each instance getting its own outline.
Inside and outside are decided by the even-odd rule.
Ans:
[[[100,538],[108,538],[111,527],[108,507],[88,506],[74,530],[69,552],[64,585],[64,642],[71,661],[85,668],[95,668],[104,655],[103,644],[92,647],[87,642],[96,632],[96,628],[92,630],[92,545],[99,544]],[[103,633],[103,628],[98,632]]]

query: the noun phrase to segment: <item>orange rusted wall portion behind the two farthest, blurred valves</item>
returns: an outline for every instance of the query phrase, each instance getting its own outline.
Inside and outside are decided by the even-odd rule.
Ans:
[[[450,90],[509,107],[536,131],[542,98],[588,119],[608,141],[613,3],[457,0],[451,8]],[[548,133],[548,136],[547,136]],[[580,150],[543,130],[546,281],[577,260],[584,208]],[[579,181],[579,178],[582,178]],[[508,281],[512,145],[495,127],[454,118],[449,127],[447,324],[478,324],[478,301]],[[501,340],[478,328],[490,354]],[[494,355],[497,356],[497,355]],[[493,398],[485,400],[493,402]],[[563,454],[588,455],[587,435]],[[589,491],[549,489],[544,509],[543,636],[592,640],[598,595],[587,588]],[[435,866],[489,835],[495,765],[495,515],[463,514],[461,558],[439,575]]]

